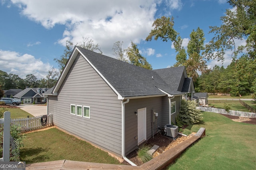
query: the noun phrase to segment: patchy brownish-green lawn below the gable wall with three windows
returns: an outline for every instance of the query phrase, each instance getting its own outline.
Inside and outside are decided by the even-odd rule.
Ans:
[[[56,128],[25,135],[24,147],[20,150],[20,160],[26,161],[26,164],[63,159],[120,164],[107,152]]]

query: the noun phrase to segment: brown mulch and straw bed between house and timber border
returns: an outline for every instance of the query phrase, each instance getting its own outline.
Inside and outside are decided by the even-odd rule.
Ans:
[[[195,134],[196,133],[192,133],[191,135],[188,135],[186,137],[182,135],[178,135],[176,140],[173,140],[172,138],[166,137],[164,135],[156,134],[154,135],[154,138],[151,137],[148,141],[145,142],[145,144],[150,146],[154,146],[154,145],[159,146],[156,152],[154,152],[154,154],[152,155],[152,157],[155,158],[156,156],[162,154],[166,150],[171,149],[172,147],[175,147],[176,145],[186,141],[187,139],[189,139]],[[126,157],[137,166],[140,166],[143,164],[143,162],[137,156],[137,150],[134,150],[133,152],[128,154]],[[126,161],[124,161],[123,164],[130,165]]]

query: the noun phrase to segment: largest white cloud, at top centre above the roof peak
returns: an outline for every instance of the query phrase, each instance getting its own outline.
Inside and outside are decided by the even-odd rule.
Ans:
[[[51,29],[56,24],[65,25],[63,37],[74,44],[82,37],[89,37],[98,43],[104,55],[112,56],[116,41],[124,41],[124,48],[130,41],[140,43],[152,29],[159,0],[122,1],[57,1],[57,0],[12,0],[21,14],[32,21]],[[172,9],[180,8],[180,0],[164,1]],[[170,10],[170,9],[169,9]]]

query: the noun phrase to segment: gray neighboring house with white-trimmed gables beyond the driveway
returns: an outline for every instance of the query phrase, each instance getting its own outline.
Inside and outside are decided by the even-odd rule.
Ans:
[[[44,98],[43,93],[46,92],[48,88],[25,88],[18,94],[14,95],[14,99],[23,101],[23,104],[31,104],[35,102],[45,103],[46,98]]]

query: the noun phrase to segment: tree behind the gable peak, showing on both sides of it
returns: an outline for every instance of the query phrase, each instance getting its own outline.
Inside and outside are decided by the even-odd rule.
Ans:
[[[88,49],[90,51],[99,51],[100,54],[102,54],[102,51],[100,50],[100,47],[98,44],[94,44],[94,41],[92,39],[89,39],[88,37],[82,37],[83,40],[79,43],[76,43],[76,46],[82,47],[84,49]],[[74,44],[70,41],[66,41],[66,48],[64,49],[64,53],[60,56],[59,59],[54,58],[54,61],[59,64],[60,73],[64,69],[66,63],[68,62],[68,58],[70,57],[72,51],[74,49]]]

